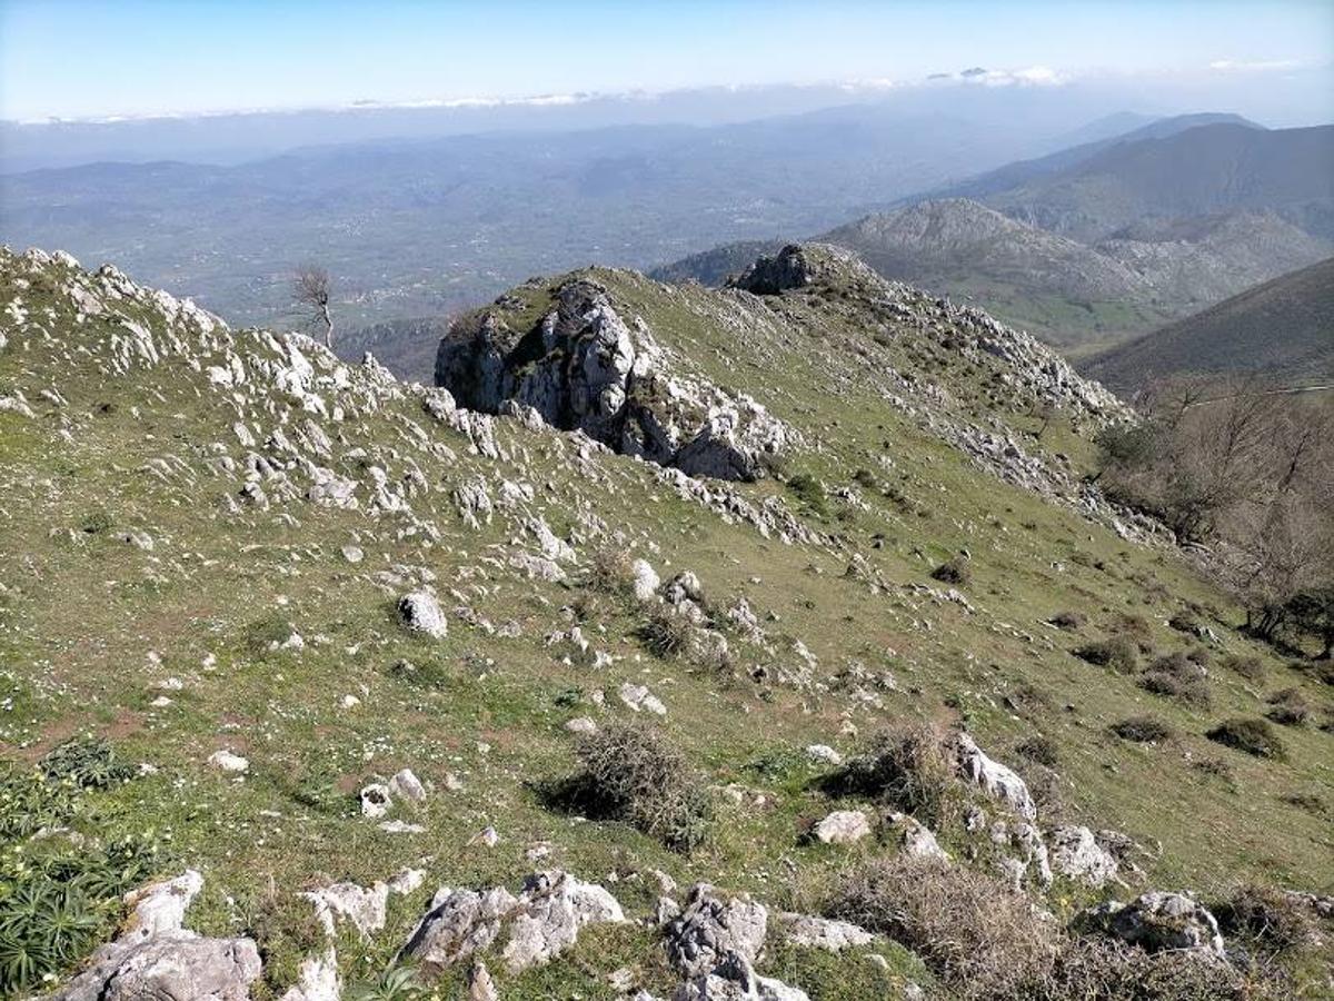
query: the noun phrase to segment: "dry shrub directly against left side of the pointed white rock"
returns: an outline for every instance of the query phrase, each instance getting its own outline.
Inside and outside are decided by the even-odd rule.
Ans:
[[[930,826],[950,819],[959,805],[948,738],[924,722],[892,723],[874,734],[826,786],[835,794],[883,798]]]

